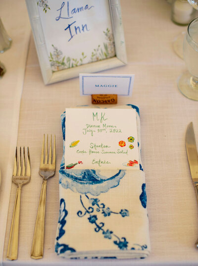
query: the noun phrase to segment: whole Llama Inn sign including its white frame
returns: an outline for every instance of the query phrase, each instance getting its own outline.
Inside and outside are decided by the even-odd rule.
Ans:
[[[119,0],[26,0],[45,84],[126,64]]]

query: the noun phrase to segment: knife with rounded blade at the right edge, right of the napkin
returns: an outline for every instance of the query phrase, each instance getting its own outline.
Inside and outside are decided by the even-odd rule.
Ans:
[[[188,128],[186,130],[186,151],[189,160],[191,176],[194,182],[194,187],[198,199],[198,152],[195,140],[195,133],[193,129],[193,122],[188,125]],[[195,246],[196,248],[198,248],[198,239],[195,243]]]

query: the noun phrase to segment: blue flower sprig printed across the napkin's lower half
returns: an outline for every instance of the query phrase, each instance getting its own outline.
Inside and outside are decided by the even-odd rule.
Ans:
[[[80,202],[84,209],[84,211],[79,210],[77,212],[77,215],[79,217],[83,217],[85,215],[89,215],[88,220],[90,223],[95,225],[95,232],[102,232],[102,235],[104,238],[107,239],[115,239],[113,243],[118,246],[119,249],[125,250],[128,247],[128,241],[125,237],[118,237],[114,234],[113,231],[110,229],[104,229],[104,222],[98,221],[97,213],[102,213],[104,217],[110,216],[111,214],[120,214],[122,217],[129,216],[129,211],[126,209],[120,210],[120,212],[113,212],[110,210],[109,207],[106,207],[104,203],[100,203],[100,200],[98,198],[89,198],[86,194],[85,197],[87,201],[89,202],[90,206],[85,207],[85,204],[83,203],[82,195],[80,195]],[[87,206],[87,203],[86,203]]]

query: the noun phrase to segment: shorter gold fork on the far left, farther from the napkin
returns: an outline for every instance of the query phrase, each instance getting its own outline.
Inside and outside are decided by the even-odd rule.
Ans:
[[[23,158],[21,158],[23,156]],[[29,148],[27,148],[27,163],[25,160],[25,148],[23,147],[23,155],[20,155],[17,165],[17,147],[14,159],[14,169],[12,175],[12,182],[17,185],[16,198],[14,203],[14,210],[12,215],[12,222],[9,234],[9,242],[7,248],[7,259],[16,260],[18,256],[18,235],[19,235],[19,216],[20,216],[20,202],[21,202],[21,188],[23,185],[30,181],[31,169],[30,169],[30,154]],[[23,160],[23,163],[22,163]],[[27,167],[26,167],[27,164]]]

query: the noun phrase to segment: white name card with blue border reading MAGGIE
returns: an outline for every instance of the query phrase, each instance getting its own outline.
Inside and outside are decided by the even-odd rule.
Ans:
[[[130,74],[79,74],[80,95],[117,94],[131,96],[134,76]]]

